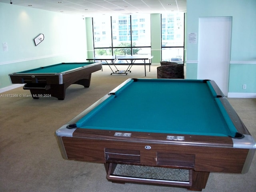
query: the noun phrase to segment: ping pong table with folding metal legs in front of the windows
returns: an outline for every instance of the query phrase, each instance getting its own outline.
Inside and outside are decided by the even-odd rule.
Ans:
[[[99,55],[95,56],[93,58],[88,58],[86,60],[92,61],[104,61],[110,69],[112,70],[112,74],[128,74],[127,72],[131,72],[131,68],[136,60],[142,60],[144,62],[144,68],[145,68],[145,76],[146,76],[146,60],[149,60],[149,71],[150,71],[150,65],[151,65],[151,59],[153,56],[151,55],[119,55],[119,56],[112,56],[112,55]],[[128,63],[128,68],[126,70],[118,70],[118,68],[115,65],[116,60],[125,60]],[[108,62],[109,61],[109,62]],[[111,65],[116,68],[116,70],[111,68]]]

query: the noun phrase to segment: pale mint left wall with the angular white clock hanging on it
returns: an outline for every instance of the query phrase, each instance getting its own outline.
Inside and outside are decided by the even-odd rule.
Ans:
[[[38,46],[34,38],[44,34]],[[0,3],[0,89],[8,74],[59,62],[86,59],[85,20],[67,14]],[[2,43],[7,43],[4,51]]]

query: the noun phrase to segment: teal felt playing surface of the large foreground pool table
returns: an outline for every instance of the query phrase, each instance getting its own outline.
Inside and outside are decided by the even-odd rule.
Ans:
[[[131,80],[77,122],[79,128],[234,135],[210,84],[201,81]]]

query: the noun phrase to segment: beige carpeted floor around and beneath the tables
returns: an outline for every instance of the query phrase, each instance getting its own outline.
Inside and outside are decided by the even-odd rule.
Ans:
[[[122,68],[122,66],[120,66]],[[124,67],[125,68],[125,67]],[[64,160],[55,131],[127,78],[156,78],[156,66],[144,77],[144,66],[128,75],[110,75],[108,66],[92,74],[89,88],[72,85],[65,100],[26,97],[22,87],[0,93],[1,192],[185,192],[184,188],[116,184],[106,180],[103,164]],[[5,97],[18,94],[18,97]],[[159,98],[161,99],[161,98]],[[229,98],[256,138],[256,99]],[[246,174],[210,173],[205,192],[255,192],[256,156]]]

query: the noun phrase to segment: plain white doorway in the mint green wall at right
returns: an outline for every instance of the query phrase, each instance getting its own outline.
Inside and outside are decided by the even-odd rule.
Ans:
[[[198,79],[214,80],[228,95],[232,17],[199,18]]]

